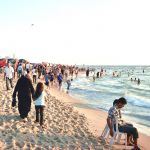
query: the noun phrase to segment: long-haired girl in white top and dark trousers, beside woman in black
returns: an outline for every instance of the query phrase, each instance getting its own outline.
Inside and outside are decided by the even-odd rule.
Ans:
[[[35,91],[35,110],[36,110],[36,120],[35,122],[40,122],[40,125],[43,125],[43,112],[45,107],[45,92],[43,83],[39,82],[36,86]],[[39,119],[40,116],[40,119]]]

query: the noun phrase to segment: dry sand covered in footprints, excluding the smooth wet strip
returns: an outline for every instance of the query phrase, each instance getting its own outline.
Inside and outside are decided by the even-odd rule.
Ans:
[[[20,118],[17,107],[11,107],[12,92],[6,91],[1,75],[0,149],[103,149],[89,130],[87,118],[62,99],[46,91],[45,121],[41,127],[34,122],[33,103],[27,121]]]

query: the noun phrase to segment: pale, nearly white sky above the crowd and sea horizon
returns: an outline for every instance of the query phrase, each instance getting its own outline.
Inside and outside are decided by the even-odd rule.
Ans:
[[[150,65],[149,0],[0,0],[0,56]]]

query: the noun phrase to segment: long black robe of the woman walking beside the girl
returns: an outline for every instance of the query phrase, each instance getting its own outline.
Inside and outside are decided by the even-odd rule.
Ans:
[[[17,81],[13,98],[16,98],[18,92],[18,110],[21,118],[26,118],[31,109],[31,94],[34,95],[34,88],[29,78],[21,76]]]

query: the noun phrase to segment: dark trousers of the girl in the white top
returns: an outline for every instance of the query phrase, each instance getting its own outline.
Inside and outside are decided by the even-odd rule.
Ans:
[[[35,106],[35,110],[36,110],[36,122],[40,122],[40,125],[43,125],[44,106]]]

